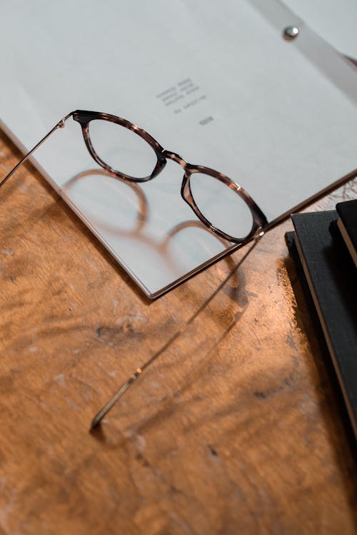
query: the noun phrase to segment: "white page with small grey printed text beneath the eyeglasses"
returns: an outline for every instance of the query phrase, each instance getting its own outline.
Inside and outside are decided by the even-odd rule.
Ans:
[[[275,1],[5,5],[0,113],[26,148],[69,111],[113,113],[240,183],[270,222],[357,167],[356,73]],[[231,245],[198,225],[176,163],[133,190],[98,170],[71,119],[35,157],[147,295]]]

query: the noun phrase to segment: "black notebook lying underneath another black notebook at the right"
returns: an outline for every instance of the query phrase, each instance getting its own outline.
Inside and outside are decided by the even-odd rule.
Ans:
[[[335,210],[294,214],[295,242],[357,436],[357,280],[343,243],[333,240]]]

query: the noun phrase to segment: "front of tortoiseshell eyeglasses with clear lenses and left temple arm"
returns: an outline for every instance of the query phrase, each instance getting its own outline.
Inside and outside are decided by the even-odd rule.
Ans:
[[[0,187],[51,133],[64,128],[70,117],[81,125],[86,147],[94,160],[116,177],[146,182],[159,175],[167,159],[181,165],[183,200],[202,223],[221,238],[246,243],[266,228],[263,212],[231,178],[211,168],[188,163],[178,154],[162,148],[146,131],[109,113],[80,110],[69,113],[6,175]]]

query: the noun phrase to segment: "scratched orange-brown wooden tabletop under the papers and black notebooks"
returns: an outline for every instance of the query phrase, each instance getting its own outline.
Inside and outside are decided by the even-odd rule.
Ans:
[[[1,135],[1,175],[18,159]],[[0,193],[0,531],[356,533],[356,444],[290,222],[150,302],[31,165]]]

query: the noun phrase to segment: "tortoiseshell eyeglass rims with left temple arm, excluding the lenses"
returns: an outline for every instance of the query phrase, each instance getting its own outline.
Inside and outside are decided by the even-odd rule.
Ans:
[[[149,180],[152,180],[155,178],[161,171],[164,169],[166,165],[166,161],[172,160],[181,165],[181,167],[184,170],[183,174],[183,180],[181,183],[181,197],[185,202],[191,207],[193,212],[196,214],[198,219],[206,225],[209,230],[211,230],[216,235],[220,236],[221,238],[224,238],[232,243],[246,243],[251,238],[255,238],[258,235],[262,235],[264,230],[266,229],[268,225],[268,221],[266,220],[266,216],[263,214],[261,209],[258,207],[258,205],[253,201],[251,196],[243,190],[241,185],[238,185],[238,183],[231,180],[231,178],[228,178],[228,176],[223,175],[222,173],[218,173],[218,171],[211,169],[209,167],[204,167],[203,165],[193,165],[192,163],[188,163],[182,156],[179,156],[178,154],[167,151],[161,145],[152,137],[149,133],[144,131],[142,128],[139,128],[139,126],[136,126],[134,123],[131,123],[130,121],[126,121],[126,119],[123,119],[121,117],[117,117],[114,115],[111,115],[109,113],[101,113],[98,111],[84,111],[84,110],[76,110],[71,111],[68,115],[66,115],[59,123],[54,126],[54,128],[49,131],[49,133],[44,136],[44,138],[39,141],[39,143],[34,146],[34,148],[27,153],[24,158],[10,171],[8,175],[1,181],[1,185],[3,185],[6,180],[10,178],[10,176],[16,171],[19,166],[26,161],[29,156],[36,151],[36,148],[38,148],[44,141],[53,133],[57,128],[64,128],[66,121],[73,117],[74,121],[78,122],[81,125],[84,142],[86,143],[86,147],[89,150],[89,153],[91,154],[92,158],[98,163],[102,168],[107,170],[111,175],[116,176],[117,178],[122,178],[124,180],[129,180],[130,182],[147,182]],[[148,176],[145,176],[143,178],[137,178],[130,175],[126,175],[124,173],[121,173],[121,171],[116,170],[114,168],[111,168],[110,165],[108,165],[106,162],[101,160],[99,155],[94,150],[94,146],[91,143],[91,137],[89,134],[89,123],[94,120],[101,120],[101,121],[109,121],[111,123],[116,123],[119,126],[124,126],[124,128],[128,128],[132,132],[134,132],[136,135],[140,136],[146,143],[151,146],[151,148],[154,150],[156,154],[156,165],[154,167],[154,170],[152,170],[151,174]],[[201,213],[200,209],[198,208],[198,205],[196,204],[192,191],[191,191],[191,185],[190,185],[190,179],[191,175],[193,173],[203,173],[205,175],[212,176],[213,178],[216,178],[217,180],[220,180],[223,184],[227,185],[228,188],[231,188],[236,192],[237,195],[240,196],[240,198],[246,203],[249,210],[251,211],[252,215],[252,227],[251,231],[248,233],[248,235],[245,235],[241,238],[237,238],[236,236],[231,236],[219,228],[216,228],[211,221],[208,221],[206,217]]]

